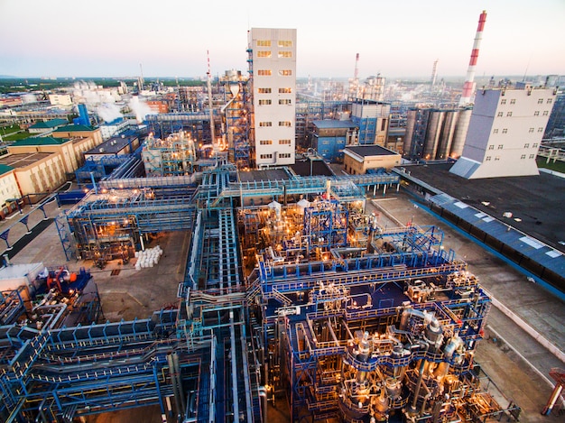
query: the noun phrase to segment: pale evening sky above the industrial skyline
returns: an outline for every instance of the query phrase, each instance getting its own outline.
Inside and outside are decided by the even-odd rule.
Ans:
[[[0,75],[199,77],[247,70],[247,31],[296,28],[298,77],[565,74],[565,0],[0,0]]]

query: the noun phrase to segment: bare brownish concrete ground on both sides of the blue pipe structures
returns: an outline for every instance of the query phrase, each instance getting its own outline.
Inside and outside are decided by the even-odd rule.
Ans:
[[[375,208],[373,208],[375,207]],[[56,204],[45,207],[49,217],[60,213]],[[486,252],[464,234],[431,216],[421,207],[414,207],[406,194],[389,191],[386,198],[377,196],[373,202],[367,201],[366,211],[380,210],[383,225],[406,224],[438,225],[445,232],[444,246],[453,249],[457,257],[469,263],[469,271],[475,273],[481,284],[503,306],[535,329],[549,344],[555,345],[560,354],[565,351],[565,308],[563,302],[542,290],[502,258]],[[24,210],[24,212],[29,210]],[[35,216],[37,215],[37,216]],[[391,216],[391,218],[387,217]],[[0,222],[0,231],[6,225],[13,225],[19,217]],[[43,215],[34,212],[29,226],[42,220]],[[396,220],[397,222],[394,222]],[[16,227],[22,226],[22,228]],[[11,235],[26,232],[24,225],[15,225]],[[184,263],[188,251],[188,234],[161,234],[147,245],[159,244],[163,250],[162,260],[153,268],[135,271],[134,260],[126,265],[109,262],[103,270],[93,267],[92,262],[67,262],[59,235],[54,224],[27,244],[17,253],[12,262],[43,262],[46,266],[67,264],[71,271],[80,267],[90,269],[97,282],[105,317],[108,320],[125,320],[134,317],[149,317],[153,310],[176,303],[178,283],[182,280]],[[119,270],[112,275],[112,271]],[[116,271],[114,272],[116,273]],[[543,339],[542,339],[543,341]],[[531,335],[516,326],[498,308],[493,307],[486,327],[486,340],[477,348],[477,362],[505,392],[509,400],[514,400],[523,409],[521,421],[548,422],[562,421],[563,416],[544,417],[540,414],[551,394],[551,381],[548,372],[551,367],[565,367],[555,354],[548,352]],[[501,401],[503,406],[506,406]],[[283,407],[284,401],[277,406]],[[278,407],[277,407],[278,408]],[[284,421],[286,414],[281,410],[271,410],[275,421]],[[281,419],[282,418],[282,419]],[[158,407],[134,409],[106,413],[88,417],[88,422],[161,421]],[[170,421],[172,421],[170,419]]]

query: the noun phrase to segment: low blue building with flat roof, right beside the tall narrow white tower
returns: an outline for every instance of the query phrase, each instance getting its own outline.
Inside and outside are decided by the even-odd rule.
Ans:
[[[357,143],[357,125],[350,119],[314,121],[312,124],[311,146],[326,161],[343,161],[346,145]]]

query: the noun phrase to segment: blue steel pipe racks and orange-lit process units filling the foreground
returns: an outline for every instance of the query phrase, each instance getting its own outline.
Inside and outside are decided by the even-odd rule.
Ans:
[[[440,248],[441,232],[363,225],[365,244],[353,243],[363,187],[398,183],[389,177],[241,182],[218,163],[191,177],[102,181],[65,216],[79,251],[190,230],[179,307],[129,322],[0,326],[0,418],[71,421],[150,404],[164,416],[166,398],[184,422],[264,421],[275,398],[296,422],[486,419],[478,398],[488,418],[519,414],[479,387],[472,357],[490,300]],[[265,197],[280,200],[280,215],[249,206]]]

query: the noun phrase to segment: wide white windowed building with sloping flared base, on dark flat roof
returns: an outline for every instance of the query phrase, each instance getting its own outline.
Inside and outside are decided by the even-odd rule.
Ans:
[[[451,168],[467,179],[539,175],[535,162],[554,89],[478,89],[463,154]]]

